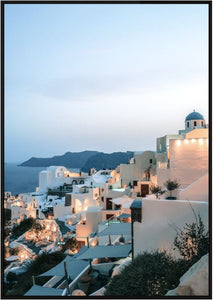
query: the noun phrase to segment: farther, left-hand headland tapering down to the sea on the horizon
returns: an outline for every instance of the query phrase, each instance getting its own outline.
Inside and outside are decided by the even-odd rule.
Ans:
[[[66,152],[64,155],[53,156],[50,158],[31,157],[23,162],[23,167],[49,167],[64,166],[66,168],[81,168],[87,160],[98,151]]]

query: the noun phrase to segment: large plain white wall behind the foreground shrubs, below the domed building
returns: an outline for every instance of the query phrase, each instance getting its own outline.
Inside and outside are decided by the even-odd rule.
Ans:
[[[208,203],[190,201],[196,214],[200,213],[208,227]],[[142,223],[134,223],[134,253],[155,249],[173,249],[176,231],[170,226],[183,228],[185,223],[195,222],[193,211],[184,200],[143,199]],[[178,253],[174,252],[178,257]]]

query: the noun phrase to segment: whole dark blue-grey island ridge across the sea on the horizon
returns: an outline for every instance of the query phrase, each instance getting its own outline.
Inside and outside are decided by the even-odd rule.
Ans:
[[[88,172],[91,168],[114,169],[119,164],[126,164],[133,157],[134,152],[113,152],[103,153],[99,151],[66,152],[63,155],[49,158],[31,157],[21,163],[22,167],[49,167],[64,166],[66,168],[79,168],[83,172]]]

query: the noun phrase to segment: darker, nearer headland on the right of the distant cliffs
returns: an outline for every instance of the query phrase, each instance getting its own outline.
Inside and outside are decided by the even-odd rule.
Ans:
[[[120,164],[126,164],[133,157],[134,152],[113,152],[113,153],[97,153],[91,156],[86,164],[81,168],[83,172],[88,172],[91,168],[96,170],[115,169]]]

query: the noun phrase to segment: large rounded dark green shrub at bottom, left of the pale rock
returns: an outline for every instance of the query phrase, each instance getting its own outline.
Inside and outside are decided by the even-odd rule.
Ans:
[[[179,283],[178,262],[166,252],[144,252],[109,282],[105,296],[163,296]]]

